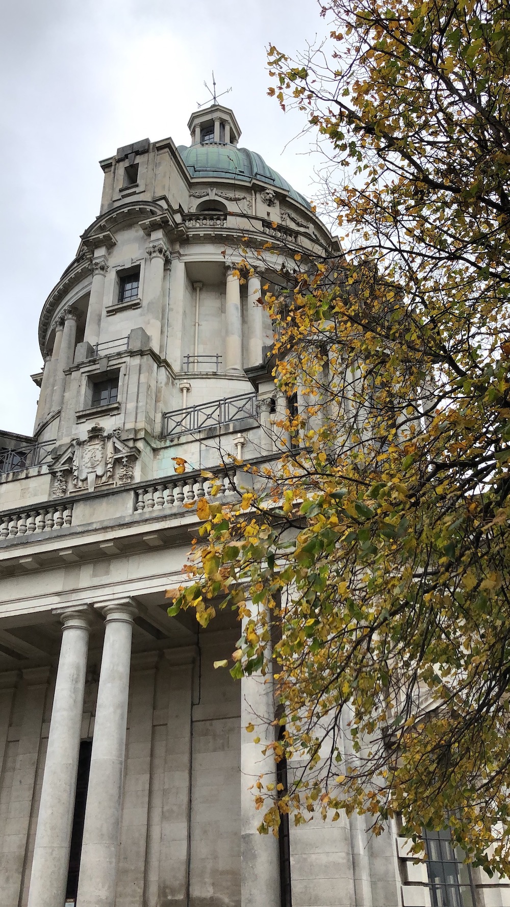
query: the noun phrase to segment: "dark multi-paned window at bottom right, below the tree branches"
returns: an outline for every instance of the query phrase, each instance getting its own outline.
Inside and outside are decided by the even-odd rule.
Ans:
[[[433,907],[475,907],[471,869],[454,847],[449,831],[424,831],[427,873]]]

